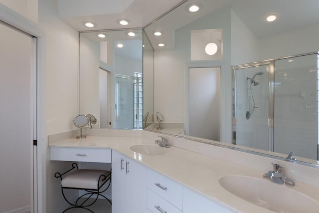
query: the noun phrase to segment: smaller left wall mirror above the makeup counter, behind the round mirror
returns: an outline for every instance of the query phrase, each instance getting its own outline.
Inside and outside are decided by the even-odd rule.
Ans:
[[[79,114],[94,115],[93,128],[152,122],[153,49],[146,40],[143,64],[143,42],[142,29],[79,32]]]

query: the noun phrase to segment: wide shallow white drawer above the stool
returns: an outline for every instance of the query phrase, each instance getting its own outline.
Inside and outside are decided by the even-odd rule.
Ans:
[[[111,163],[111,149],[50,147],[52,161]]]

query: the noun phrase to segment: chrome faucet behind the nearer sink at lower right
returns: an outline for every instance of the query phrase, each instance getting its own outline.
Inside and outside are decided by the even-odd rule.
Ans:
[[[264,178],[270,179],[276,184],[283,184],[283,185],[289,185],[289,186],[295,186],[295,181],[292,179],[289,179],[283,175],[283,166],[272,163],[273,165],[273,171],[269,171],[268,173],[264,174]]]

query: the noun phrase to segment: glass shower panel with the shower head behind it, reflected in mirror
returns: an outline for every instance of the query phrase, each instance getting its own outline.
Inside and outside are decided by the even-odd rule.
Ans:
[[[234,144],[269,150],[269,63],[234,68]]]

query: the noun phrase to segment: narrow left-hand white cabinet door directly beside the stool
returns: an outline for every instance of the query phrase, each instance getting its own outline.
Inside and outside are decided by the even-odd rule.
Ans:
[[[112,150],[112,213],[126,212],[126,158]]]

